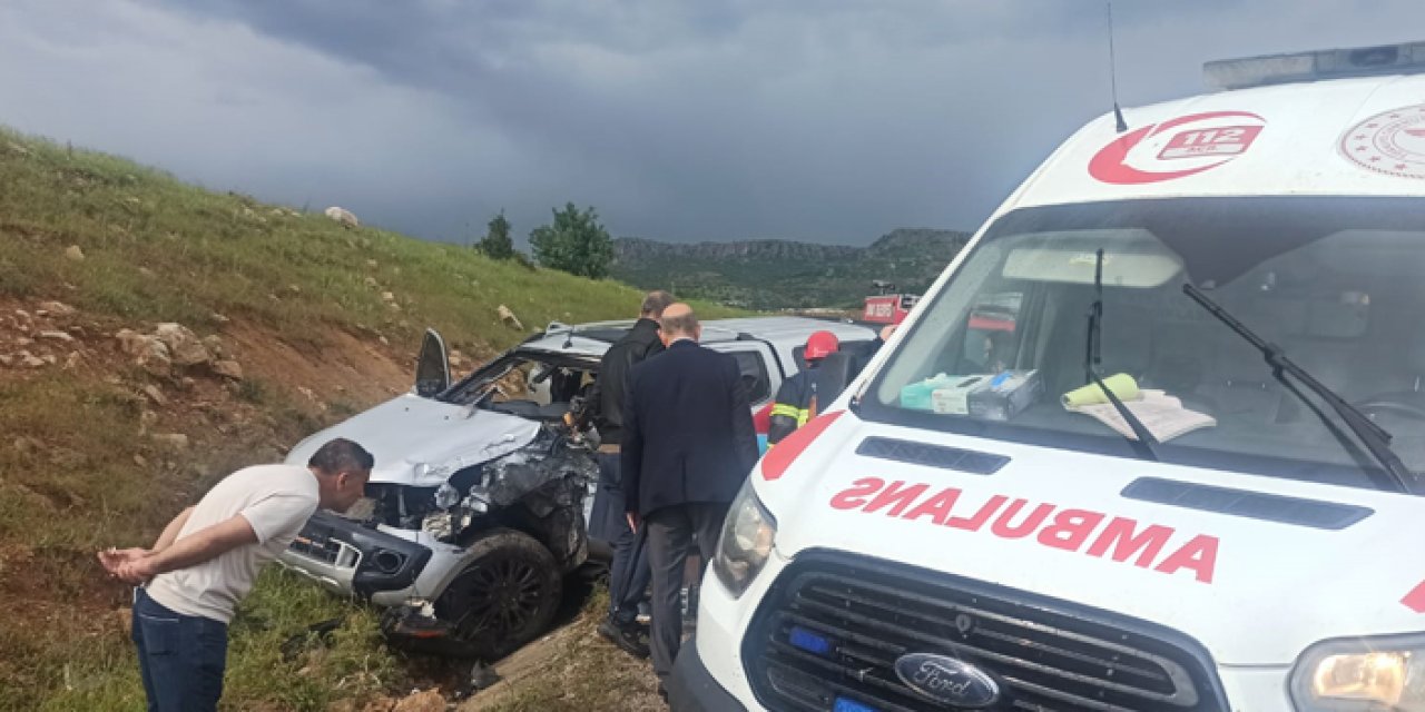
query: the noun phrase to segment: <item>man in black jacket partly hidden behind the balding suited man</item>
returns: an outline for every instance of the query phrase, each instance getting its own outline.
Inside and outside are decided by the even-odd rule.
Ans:
[[[598,362],[598,379],[590,400],[594,406],[594,426],[603,439],[598,449],[598,497],[596,507],[600,515],[600,534],[614,548],[608,565],[608,618],[598,625],[598,634],[608,638],[624,651],[647,656],[648,646],[641,641],[643,631],[637,625],[638,602],[648,588],[648,560],[644,557],[643,537],[628,528],[624,517],[624,491],[618,486],[618,444],[623,440],[623,407],[628,387],[628,370],[648,356],[663,352],[658,339],[658,319],[673,303],[673,295],[657,290],[643,298],[643,309],[633,329],[604,352]]]

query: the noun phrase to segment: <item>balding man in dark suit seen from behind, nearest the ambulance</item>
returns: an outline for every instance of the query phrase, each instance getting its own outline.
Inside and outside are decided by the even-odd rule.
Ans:
[[[630,372],[620,457],[628,524],[647,527],[661,689],[683,641],[678,594],[694,538],[711,561],[758,449],[737,360],[698,346],[703,328],[688,305],[668,306],[658,322],[667,350]]]

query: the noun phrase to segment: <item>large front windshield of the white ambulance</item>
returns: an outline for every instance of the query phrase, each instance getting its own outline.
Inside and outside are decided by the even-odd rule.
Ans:
[[[1184,293],[1193,285],[1391,433],[1419,473],[1421,215],[1418,198],[1324,197],[1006,214],[925,305],[862,397],[862,414],[1140,457],[1117,410],[1083,389],[1096,345],[1097,373],[1150,426],[1164,461],[1379,486],[1379,463],[1344,420],[1291,376],[1294,389],[1275,379],[1257,347]]]

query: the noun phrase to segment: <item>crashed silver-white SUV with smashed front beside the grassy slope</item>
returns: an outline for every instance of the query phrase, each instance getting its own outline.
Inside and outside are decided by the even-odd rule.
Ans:
[[[580,410],[598,359],[631,326],[553,323],[455,384],[445,343],[428,332],[412,392],[288,454],[305,464],[322,443],[348,437],[376,467],[358,507],[318,511],[281,561],[333,592],[392,607],[383,629],[408,646],[496,659],[540,635],[563,575],[591,548],[596,558],[607,551],[587,534],[597,433],[564,416]],[[748,318],[705,322],[703,343],[737,359],[762,412],[821,329],[849,345],[875,337],[852,323]]]

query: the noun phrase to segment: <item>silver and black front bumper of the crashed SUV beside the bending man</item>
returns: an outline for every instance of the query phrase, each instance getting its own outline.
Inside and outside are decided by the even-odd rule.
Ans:
[[[430,554],[415,541],[318,511],[279,561],[328,591],[372,598],[410,588]]]

